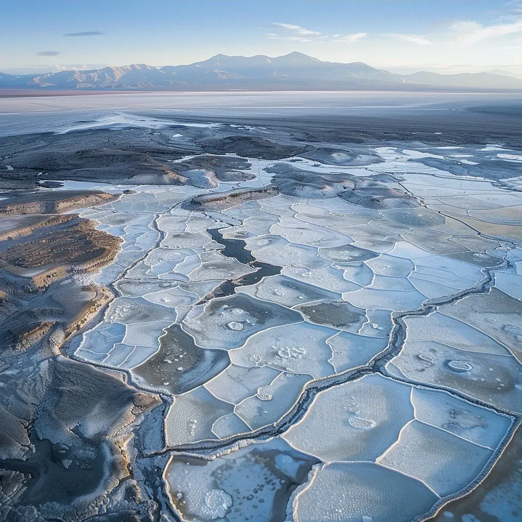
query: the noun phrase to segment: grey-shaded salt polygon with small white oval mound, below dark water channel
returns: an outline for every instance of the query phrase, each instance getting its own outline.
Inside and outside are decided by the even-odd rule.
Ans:
[[[246,294],[234,294],[208,302],[203,313],[191,312],[183,319],[183,329],[199,346],[207,348],[237,348],[252,334],[281,324],[302,321],[301,314],[283,306],[259,301]],[[231,328],[229,323],[241,323],[243,328]]]

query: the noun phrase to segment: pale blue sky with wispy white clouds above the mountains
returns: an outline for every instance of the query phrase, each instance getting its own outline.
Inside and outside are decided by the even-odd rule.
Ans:
[[[521,60],[519,0],[13,0],[0,16],[5,72],[291,51],[396,72]]]

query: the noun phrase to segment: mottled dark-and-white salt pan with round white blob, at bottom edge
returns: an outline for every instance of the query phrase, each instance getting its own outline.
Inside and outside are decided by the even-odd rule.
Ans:
[[[230,522],[271,522],[284,518],[291,493],[306,481],[315,463],[284,441],[273,439],[218,454],[212,460],[176,455],[165,479],[184,519],[208,520],[223,514]]]

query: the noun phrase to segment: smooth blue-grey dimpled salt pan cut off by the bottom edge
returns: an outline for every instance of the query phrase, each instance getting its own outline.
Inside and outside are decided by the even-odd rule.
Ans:
[[[373,462],[332,462],[315,467],[296,490],[292,519],[411,522],[438,500],[420,481]]]

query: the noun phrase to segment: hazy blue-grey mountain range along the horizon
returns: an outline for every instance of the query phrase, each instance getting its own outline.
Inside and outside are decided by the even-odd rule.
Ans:
[[[363,62],[323,62],[303,53],[283,56],[217,54],[189,65],[132,64],[60,73],[0,73],[0,89],[45,90],[522,90],[522,81],[495,73],[407,75]]]

